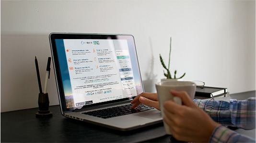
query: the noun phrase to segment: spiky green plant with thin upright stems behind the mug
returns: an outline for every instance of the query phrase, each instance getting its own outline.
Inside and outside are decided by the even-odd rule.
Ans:
[[[177,71],[175,70],[174,77],[171,76],[171,72],[170,72],[171,50],[172,50],[172,37],[171,37],[171,41],[170,41],[170,52],[169,52],[168,68],[165,66],[161,54],[159,54],[160,55],[160,61],[161,61],[162,65],[163,65],[163,68],[167,71],[167,73],[165,73],[163,71],[163,75],[166,77],[166,79],[173,79],[174,81],[178,81],[179,79],[182,79],[185,76],[186,72],[181,77],[177,78],[176,77]],[[165,81],[166,79],[161,79],[161,81]]]

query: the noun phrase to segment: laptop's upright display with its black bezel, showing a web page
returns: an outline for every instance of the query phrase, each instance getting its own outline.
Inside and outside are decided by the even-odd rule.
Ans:
[[[50,42],[58,94],[67,111],[143,92],[133,36],[51,33]]]

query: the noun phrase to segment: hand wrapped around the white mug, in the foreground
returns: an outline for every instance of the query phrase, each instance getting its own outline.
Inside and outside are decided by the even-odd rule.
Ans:
[[[179,141],[208,142],[213,130],[219,126],[209,115],[198,108],[185,91],[172,90],[171,94],[181,98],[182,105],[168,100],[163,103],[163,120],[170,132]]]

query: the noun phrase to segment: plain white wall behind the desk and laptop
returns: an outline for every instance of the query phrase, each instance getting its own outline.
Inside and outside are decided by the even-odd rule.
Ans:
[[[1,112],[38,107],[34,59],[44,83],[50,32],[134,35],[146,92],[164,77],[171,36],[184,80],[255,90],[255,12],[255,0],[1,0]],[[54,74],[48,93],[58,104]]]

